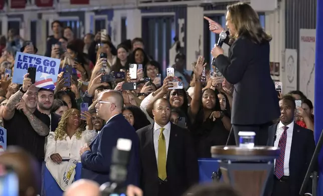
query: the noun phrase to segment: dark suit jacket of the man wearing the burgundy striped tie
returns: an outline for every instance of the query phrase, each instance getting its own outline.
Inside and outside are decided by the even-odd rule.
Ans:
[[[269,126],[267,145],[273,146],[277,125]],[[293,136],[289,156],[290,195],[299,195],[301,184],[304,180],[309,162],[315,150],[313,131],[294,123]],[[272,174],[274,176],[274,173]],[[272,189],[274,177],[269,179],[267,189]],[[271,187],[271,188],[270,188]],[[305,193],[312,193],[312,180],[308,181]]]

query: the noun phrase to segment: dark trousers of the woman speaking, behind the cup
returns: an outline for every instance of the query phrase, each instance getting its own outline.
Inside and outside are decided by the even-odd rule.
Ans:
[[[272,122],[265,124],[238,125],[232,124],[227,145],[239,145],[239,131],[253,131],[256,133],[255,145],[266,145],[268,140],[268,127]]]

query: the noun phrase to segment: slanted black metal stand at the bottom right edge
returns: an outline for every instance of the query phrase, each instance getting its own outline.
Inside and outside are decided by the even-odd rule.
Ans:
[[[317,195],[317,179],[318,179],[318,174],[317,171],[313,171],[314,167],[317,165],[317,157],[318,154],[322,148],[322,143],[323,143],[323,130],[318,138],[312,159],[310,160],[310,163],[308,165],[308,169],[306,171],[306,175],[304,177],[302,186],[300,187],[299,195],[304,195],[305,193],[305,188],[307,186],[309,178],[312,178],[312,196]]]

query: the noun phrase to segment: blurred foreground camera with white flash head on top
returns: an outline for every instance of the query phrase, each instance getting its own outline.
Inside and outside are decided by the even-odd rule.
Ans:
[[[112,150],[110,166],[110,182],[105,182],[100,186],[102,196],[125,196],[126,186],[124,182],[127,178],[127,165],[132,141],[130,139],[119,138],[117,145]]]

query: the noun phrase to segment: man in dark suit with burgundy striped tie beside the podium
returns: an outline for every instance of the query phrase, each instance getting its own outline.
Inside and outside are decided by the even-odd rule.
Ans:
[[[268,181],[267,189],[271,196],[298,195],[315,149],[313,131],[294,122],[296,108],[291,95],[284,95],[279,106],[280,121],[269,127],[267,145],[280,147],[281,150],[275,159],[274,173]],[[309,180],[305,195],[311,195],[311,192]]]

